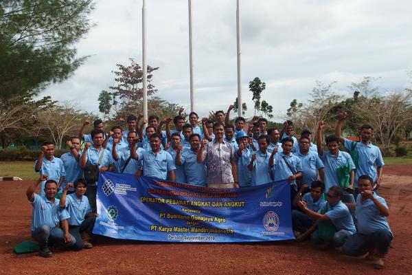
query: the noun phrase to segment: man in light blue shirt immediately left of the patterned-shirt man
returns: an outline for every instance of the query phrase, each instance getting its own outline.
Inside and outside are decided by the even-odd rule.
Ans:
[[[190,145],[190,149],[184,149],[181,155],[176,155],[176,167],[184,167],[187,184],[205,187],[207,177],[206,161],[203,161],[203,163],[197,162],[201,136],[196,133],[191,135]]]

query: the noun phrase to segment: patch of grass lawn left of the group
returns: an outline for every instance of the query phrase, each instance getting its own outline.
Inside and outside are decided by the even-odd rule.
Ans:
[[[34,172],[34,162],[0,162],[0,177],[21,177],[21,179],[38,179]]]

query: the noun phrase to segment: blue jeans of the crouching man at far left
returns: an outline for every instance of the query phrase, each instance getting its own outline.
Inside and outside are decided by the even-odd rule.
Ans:
[[[39,248],[45,248],[47,243],[65,243],[67,246],[74,245],[76,243],[76,239],[71,236],[71,242],[65,243],[65,232],[61,228],[57,226],[54,228],[50,228],[49,225],[41,225],[32,231],[32,237],[36,241],[38,241]]]

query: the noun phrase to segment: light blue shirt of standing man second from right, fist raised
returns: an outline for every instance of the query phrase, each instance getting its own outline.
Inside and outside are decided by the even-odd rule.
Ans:
[[[339,151],[338,156],[335,157],[329,151],[323,151],[321,157],[323,165],[325,165],[325,192],[328,192],[332,186],[340,186],[336,169],[348,163],[355,168],[355,164],[352,161],[352,157],[346,152]]]

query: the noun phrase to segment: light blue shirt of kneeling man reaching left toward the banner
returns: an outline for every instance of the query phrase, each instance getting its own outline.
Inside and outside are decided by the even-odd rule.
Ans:
[[[324,207],[328,207],[328,211],[325,212],[325,215],[332,221],[336,231],[347,230],[352,234],[356,232],[352,214],[350,214],[349,208],[347,208],[345,203],[338,201],[334,206],[330,206],[328,201],[325,201],[322,208]]]

